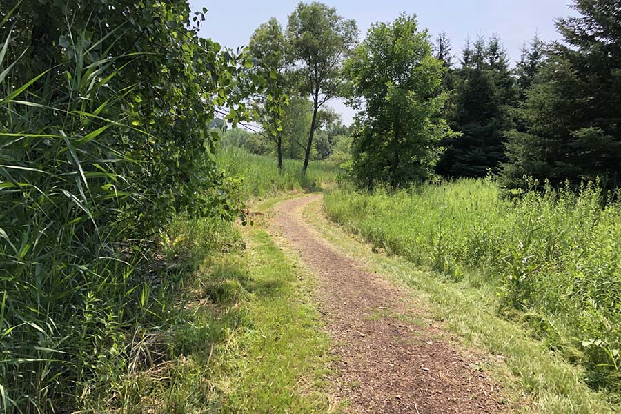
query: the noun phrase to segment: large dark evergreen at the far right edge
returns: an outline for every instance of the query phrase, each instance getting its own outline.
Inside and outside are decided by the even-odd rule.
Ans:
[[[578,17],[557,21],[564,42],[552,43],[540,77],[522,104],[524,131],[509,133],[507,188],[561,186],[601,177],[621,185],[621,19],[615,0],[576,0]]]

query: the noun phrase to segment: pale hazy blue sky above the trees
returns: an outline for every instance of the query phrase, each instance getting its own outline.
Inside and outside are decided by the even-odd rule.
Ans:
[[[310,2],[307,0],[306,2]],[[259,24],[276,17],[286,26],[287,16],[298,0],[190,0],[192,10],[208,9],[202,37],[229,48],[246,46]],[[520,48],[535,33],[546,41],[560,38],[554,21],[575,14],[571,0],[324,0],[346,19],[355,19],[363,39],[371,23],[393,21],[401,12],[416,14],[421,28],[435,38],[446,32],[459,55],[466,39],[498,35],[512,62],[520,59]],[[331,106],[350,124],[354,115],[342,101]]]

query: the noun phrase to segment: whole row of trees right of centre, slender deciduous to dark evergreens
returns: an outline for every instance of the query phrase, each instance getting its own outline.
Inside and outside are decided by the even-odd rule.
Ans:
[[[494,174],[512,190],[595,180],[616,188],[621,5],[571,7],[577,17],[555,21],[563,40],[535,36],[512,68],[497,36],[466,41],[457,59],[451,39],[432,40],[415,15],[375,23],[358,42],[355,21],[322,3],[299,3],[285,29],[271,19],[250,40],[257,68],[273,79],[255,101],[257,119],[281,158],[288,104],[310,101],[308,138],[299,142],[306,168],[320,110],[346,98],[358,111],[348,132],[360,186]]]

